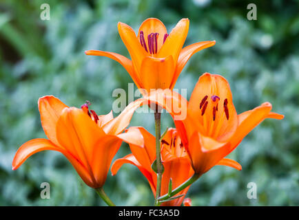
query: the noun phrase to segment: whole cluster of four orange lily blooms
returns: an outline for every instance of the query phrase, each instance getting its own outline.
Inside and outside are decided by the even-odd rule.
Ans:
[[[284,116],[271,112],[269,102],[237,114],[229,83],[219,75],[206,73],[200,76],[189,101],[172,91],[189,58],[216,43],[203,41],[183,47],[188,29],[189,19],[179,21],[169,34],[158,19],[145,20],[138,34],[125,23],[118,23],[118,32],[132,61],[113,52],[88,50],[85,54],[107,56],[118,61],[136,86],[148,93],[131,102],[116,118],[112,111],[107,115],[97,115],[90,109],[90,103],[76,108],[68,107],[54,96],[40,98],[41,125],[48,139],[37,138],[23,144],[14,156],[12,169],[19,168],[28,157],[39,151],[59,151],[87,186],[102,188],[112,159],[124,141],[130,145],[132,153],[116,159],[112,164],[112,175],[116,175],[123,164],[133,164],[145,176],[156,195],[157,174],[152,168],[156,160],[156,138],[143,127],[133,126],[123,133],[138,107],[154,103],[166,109],[176,124],[176,128],[167,129],[160,140],[164,168],[161,195],[169,193],[169,185],[177,188],[194,174],[203,175],[215,165],[241,170],[238,162],[225,157],[262,120],[281,120]],[[170,89],[170,92],[161,89]],[[178,103],[180,100],[184,102]],[[185,118],[176,118],[175,104],[185,108]],[[184,200],[188,189],[189,186],[186,186],[174,195],[183,196],[169,199],[161,205],[181,206],[184,203],[191,206],[191,199]]]

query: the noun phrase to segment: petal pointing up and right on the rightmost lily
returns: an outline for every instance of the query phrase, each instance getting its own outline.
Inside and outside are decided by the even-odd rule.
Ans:
[[[238,128],[233,137],[231,137],[231,151],[238,146],[241,140],[256,127],[260,122],[265,120],[268,117],[270,111],[272,109],[272,105],[269,102],[265,102],[261,104],[259,107],[255,109],[245,111],[238,115]],[[270,116],[274,115],[270,113]],[[277,116],[277,115],[276,115]]]

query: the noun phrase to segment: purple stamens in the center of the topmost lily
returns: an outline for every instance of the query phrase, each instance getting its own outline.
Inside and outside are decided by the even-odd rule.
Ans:
[[[141,30],[140,34],[140,43],[146,52],[149,54],[156,54],[158,52],[158,33],[151,33],[147,35],[147,44],[145,42],[145,36]],[[168,34],[164,34],[163,43],[166,41]],[[148,50],[147,50],[148,47]]]

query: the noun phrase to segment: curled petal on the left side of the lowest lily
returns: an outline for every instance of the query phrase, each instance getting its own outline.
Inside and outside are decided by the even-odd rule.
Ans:
[[[149,172],[147,169],[143,168],[143,166],[141,166],[141,164],[137,161],[133,154],[126,155],[125,157],[120,159],[116,159],[116,161],[112,164],[111,167],[112,175],[116,175],[119,168],[121,168],[123,164],[133,164],[134,166],[137,166],[141,173],[143,173],[143,175],[147,178],[147,181],[149,182],[149,186],[152,188],[152,191],[154,193],[156,192],[156,183],[152,178],[152,172]]]

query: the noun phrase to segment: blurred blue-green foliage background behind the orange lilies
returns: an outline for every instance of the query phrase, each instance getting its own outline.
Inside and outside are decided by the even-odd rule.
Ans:
[[[195,54],[176,88],[188,96],[200,74],[222,74],[229,80],[238,113],[262,102],[285,114],[267,119],[229,155],[242,171],[215,166],[189,190],[194,206],[299,205],[299,1],[101,0],[47,1],[50,21],[40,19],[45,1],[0,3],[0,205],[105,205],[83,184],[70,163],[56,152],[34,155],[16,171],[11,163],[24,142],[45,137],[37,100],[54,95],[70,106],[92,102],[108,113],[112,91],[127,89],[132,80],[115,61],[85,56],[85,50],[107,50],[128,56],[117,32],[122,21],[138,30],[147,17],[174,27],[190,19],[185,45],[216,40]],[[247,20],[247,4],[256,3],[258,20]],[[133,126],[154,131],[154,115],[135,114]],[[163,129],[172,126],[163,114]],[[123,144],[116,158],[129,153]],[[114,158],[115,159],[115,158]],[[51,199],[39,196],[43,181]],[[258,199],[247,199],[247,184],[258,186]],[[152,205],[153,195],[137,168],[125,165],[104,186],[118,205]]]

